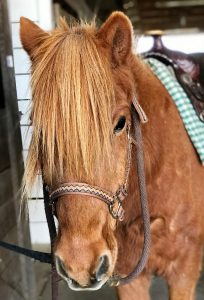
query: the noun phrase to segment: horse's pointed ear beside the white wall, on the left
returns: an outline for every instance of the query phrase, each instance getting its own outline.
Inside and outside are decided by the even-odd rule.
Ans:
[[[25,51],[32,56],[32,51],[49,36],[39,26],[31,20],[21,17],[20,19],[20,38]]]

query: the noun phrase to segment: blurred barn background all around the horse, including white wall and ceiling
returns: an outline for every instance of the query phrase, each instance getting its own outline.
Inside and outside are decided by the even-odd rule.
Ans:
[[[111,12],[123,11],[135,31],[139,53],[153,44],[152,30],[163,31],[164,44],[191,53],[200,63],[204,78],[204,0],[0,0],[0,240],[50,251],[39,176],[28,200],[29,219],[19,218],[21,180],[31,128],[30,62],[19,38],[20,16],[51,30],[60,16],[92,20],[100,24]],[[50,266],[0,248],[0,299],[51,299]],[[95,293],[74,293],[60,283],[60,300],[117,299],[111,288]],[[167,298],[163,279],[154,278],[153,300]],[[204,274],[197,298],[204,297]]]

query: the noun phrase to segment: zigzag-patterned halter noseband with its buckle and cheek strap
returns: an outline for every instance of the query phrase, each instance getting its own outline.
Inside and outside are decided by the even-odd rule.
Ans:
[[[127,149],[127,161],[125,169],[124,183],[120,185],[115,193],[106,191],[98,186],[93,186],[83,182],[68,182],[62,183],[60,186],[50,193],[50,205],[52,206],[52,213],[56,212],[56,202],[64,195],[84,195],[97,198],[108,205],[109,212],[114,219],[122,221],[124,218],[124,209],[122,202],[128,195],[128,179],[131,167],[131,152],[132,144],[136,144],[136,141],[130,135],[130,125],[127,125],[127,137],[128,137],[128,149]]]

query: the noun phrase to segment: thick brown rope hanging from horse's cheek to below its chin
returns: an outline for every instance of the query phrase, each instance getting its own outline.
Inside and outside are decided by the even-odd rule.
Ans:
[[[144,243],[142,254],[139,262],[137,263],[135,269],[126,277],[117,279],[114,282],[111,282],[112,285],[125,285],[130,283],[133,279],[138,277],[138,275],[143,271],[150,251],[151,244],[151,235],[150,235],[150,216],[148,208],[148,198],[146,190],[146,180],[145,180],[145,167],[144,167],[144,153],[142,145],[142,132],[140,126],[139,115],[137,114],[135,107],[132,110],[132,120],[135,129],[135,139],[136,139],[136,164],[137,164],[137,174],[138,174],[138,186],[140,193],[140,203],[141,203],[141,212],[143,219],[143,228],[144,228]]]

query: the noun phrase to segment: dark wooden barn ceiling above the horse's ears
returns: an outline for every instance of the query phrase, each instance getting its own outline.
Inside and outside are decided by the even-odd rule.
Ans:
[[[153,29],[202,31],[204,27],[202,0],[57,0],[54,3],[58,3],[61,9],[75,17],[92,18],[95,14],[101,22],[112,11],[123,11],[130,18],[136,32],[140,33]]]

